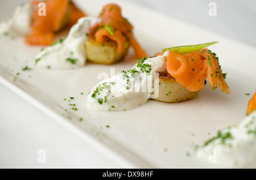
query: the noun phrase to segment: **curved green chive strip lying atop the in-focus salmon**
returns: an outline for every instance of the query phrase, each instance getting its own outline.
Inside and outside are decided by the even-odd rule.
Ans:
[[[168,49],[170,49],[175,53],[186,54],[186,53],[195,52],[195,51],[200,50],[202,48],[206,48],[207,46],[216,44],[217,42],[218,41],[208,42],[208,43],[204,43],[204,44],[189,45],[189,46],[176,46],[176,47],[173,47],[173,48],[163,49],[163,52],[166,52]]]

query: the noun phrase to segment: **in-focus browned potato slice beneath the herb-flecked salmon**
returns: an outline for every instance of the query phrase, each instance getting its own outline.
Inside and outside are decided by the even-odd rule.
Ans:
[[[176,82],[167,71],[159,72],[159,96],[154,100],[163,102],[182,102],[197,96],[199,91],[191,92]]]

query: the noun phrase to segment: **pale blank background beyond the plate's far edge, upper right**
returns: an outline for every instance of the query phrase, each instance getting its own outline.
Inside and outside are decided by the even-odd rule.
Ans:
[[[129,0],[185,22],[256,46],[255,0]],[[210,16],[210,3],[216,4],[216,16]]]

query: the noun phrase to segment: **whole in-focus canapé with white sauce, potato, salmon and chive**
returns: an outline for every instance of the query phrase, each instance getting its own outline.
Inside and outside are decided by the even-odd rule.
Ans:
[[[113,111],[133,109],[145,104],[150,96],[165,102],[185,101],[203,89],[207,78],[213,89],[219,87],[229,94],[216,54],[204,49],[214,43],[169,48],[155,57],[139,59],[131,70],[98,83],[88,95],[88,107]],[[157,84],[155,72],[159,76]],[[152,84],[154,95],[147,89]]]

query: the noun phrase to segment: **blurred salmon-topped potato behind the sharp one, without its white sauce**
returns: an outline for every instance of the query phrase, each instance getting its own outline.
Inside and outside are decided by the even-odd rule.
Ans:
[[[137,58],[147,56],[133,36],[133,26],[122,17],[121,8],[114,4],[103,7],[85,42],[87,59],[103,64],[110,64],[122,59],[129,47],[133,47]]]

